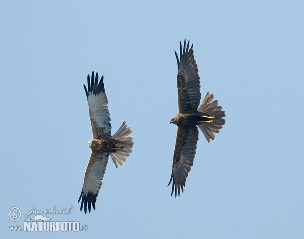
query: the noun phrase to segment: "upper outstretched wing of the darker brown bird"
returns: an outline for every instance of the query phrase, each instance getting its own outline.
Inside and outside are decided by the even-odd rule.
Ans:
[[[175,51],[177,60],[177,89],[179,113],[196,113],[200,104],[200,77],[199,70],[193,55],[193,44],[189,49],[190,40],[186,47],[186,40],[182,49],[180,44],[180,60]]]

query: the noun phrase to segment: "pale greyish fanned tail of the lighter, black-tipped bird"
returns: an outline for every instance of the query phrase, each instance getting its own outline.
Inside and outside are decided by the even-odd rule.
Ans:
[[[112,139],[119,141],[119,148],[115,153],[110,153],[111,158],[118,168],[118,163],[122,166],[123,162],[126,161],[126,157],[132,152],[132,147],[134,142],[133,138],[129,135],[132,133],[131,129],[123,122],[122,126],[117,130],[117,132],[112,136]]]

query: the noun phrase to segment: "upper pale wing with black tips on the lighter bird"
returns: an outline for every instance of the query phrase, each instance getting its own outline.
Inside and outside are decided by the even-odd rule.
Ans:
[[[91,121],[92,134],[95,139],[108,139],[111,137],[110,113],[108,110],[108,100],[104,90],[103,76],[98,83],[98,72],[94,77],[94,71],[90,81],[88,75],[88,89],[84,85],[88,105],[89,117]]]

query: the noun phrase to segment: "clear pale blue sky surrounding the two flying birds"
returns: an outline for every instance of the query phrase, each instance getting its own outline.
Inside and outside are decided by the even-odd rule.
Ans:
[[[303,1],[2,1],[0,20],[2,238],[303,238]],[[185,38],[202,97],[227,116],[214,141],[200,132],[174,198],[169,121]],[[123,167],[109,161],[85,215],[92,70],[104,75],[112,132],[126,121],[134,147]],[[89,231],[9,231],[53,206],[73,207],[52,221]]]

